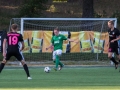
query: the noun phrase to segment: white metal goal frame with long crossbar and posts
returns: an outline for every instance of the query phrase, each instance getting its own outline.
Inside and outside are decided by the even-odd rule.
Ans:
[[[10,26],[11,26],[11,22],[12,20],[16,20],[16,19],[19,19],[20,20],[20,33],[23,34],[23,31],[24,31],[24,21],[25,20],[29,20],[29,21],[64,21],[64,20],[68,20],[68,21],[109,21],[109,20],[113,20],[115,21],[114,22],[114,27],[116,28],[117,27],[117,18],[12,18],[11,21],[10,21]],[[102,32],[103,30],[103,26],[104,26],[104,22],[102,23],[102,27],[100,29],[100,32]],[[9,27],[9,30],[10,30],[10,27]],[[100,42],[100,40],[99,40]],[[98,54],[97,53],[97,58],[96,60],[98,60]],[[114,55],[113,55],[114,56]]]

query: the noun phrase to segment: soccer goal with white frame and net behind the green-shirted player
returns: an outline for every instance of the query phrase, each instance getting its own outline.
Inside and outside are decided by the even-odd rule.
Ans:
[[[116,18],[13,18],[10,21],[19,25],[19,32],[23,34],[25,59],[30,61],[52,60],[52,48],[45,48],[50,44],[53,30],[58,27],[60,34],[78,41],[78,43],[64,41],[61,60],[108,60],[108,26],[109,20]]]

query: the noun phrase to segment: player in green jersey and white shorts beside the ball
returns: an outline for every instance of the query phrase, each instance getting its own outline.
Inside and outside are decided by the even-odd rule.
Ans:
[[[70,42],[73,42],[73,40],[66,38],[64,35],[59,34],[59,30],[58,28],[54,29],[54,36],[51,39],[51,45],[46,48],[46,50],[48,50],[51,47],[54,47],[54,51],[53,51],[53,61],[56,64],[55,66],[55,71],[57,70],[61,70],[62,67],[64,66],[63,63],[60,62],[60,56],[62,54],[62,49],[63,49],[63,40],[68,40]],[[58,68],[58,65],[60,65],[60,68]]]

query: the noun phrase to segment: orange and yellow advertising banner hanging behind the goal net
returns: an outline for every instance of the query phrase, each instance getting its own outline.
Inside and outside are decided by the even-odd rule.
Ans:
[[[63,42],[63,53],[108,53],[108,33],[100,33],[94,31],[80,31],[80,32],[68,32],[60,31],[62,35],[67,38],[78,41],[69,42],[68,40]],[[25,42],[24,53],[41,53],[52,52],[54,47],[51,47],[46,51],[46,47],[51,44],[51,38],[53,31],[24,31],[23,37]]]

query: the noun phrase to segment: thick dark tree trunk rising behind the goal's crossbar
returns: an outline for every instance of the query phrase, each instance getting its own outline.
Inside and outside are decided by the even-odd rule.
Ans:
[[[94,17],[94,8],[93,0],[83,0],[83,18],[93,18]]]

